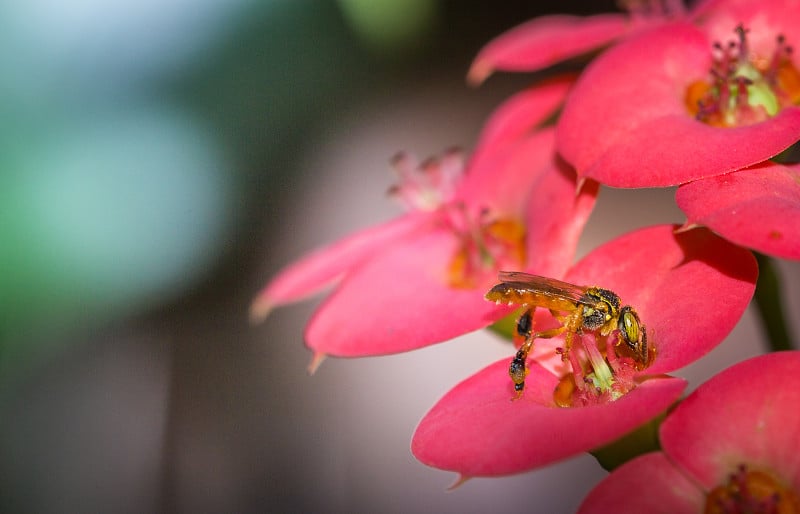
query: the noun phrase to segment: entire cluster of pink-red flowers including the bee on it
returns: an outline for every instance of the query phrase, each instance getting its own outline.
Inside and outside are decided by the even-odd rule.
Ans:
[[[800,61],[789,46],[800,41],[800,9],[642,4],[627,15],[539,18],[487,45],[469,72],[475,82],[597,56],[577,77],[551,77],[500,106],[466,164],[455,153],[398,157],[391,191],[408,213],[295,262],[253,304],[261,318],[335,284],[305,334],[319,362],[486,327],[512,312],[483,299],[499,271],[551,277],[508,285],[503,298],[527,307],[514,380],[504,360],[445,395],[413,439],[426,464],[503,475],[619,439],[679,399],[686,382],[665,373],[739,320],[758,274],[750,250],[800,258],[800,165],[771,160],[800,139]],[[687,221],[638,229],[570,267],[599,184],[678,186]],[[386,277],[392,287],[368,293]],[[536,339],[565,337],[566,348],[528,353]],[[626,355],[623,341],[645,357]],[[663,453],[618,468],[584,511],[800,508],[800,461],[784,458],[800,444],[798,365],[798,353],[771,354],[712,378],[661,425]]]

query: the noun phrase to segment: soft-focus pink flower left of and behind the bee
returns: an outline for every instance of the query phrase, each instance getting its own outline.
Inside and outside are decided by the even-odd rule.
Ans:
[[[337,284],[306,329],[323,355],[400,352],[476,330],[502,315],[483,301],[500,267],[566,271],[594,206],[596,183],[576,195],[575,174],[553,151],[554,130],[534,130],[570,86],[522,92],[487,123],[462,176],[453,155],[395,164],[390,190],[410,211],[318,250],[280,272],[252,314]]]

